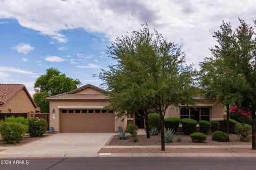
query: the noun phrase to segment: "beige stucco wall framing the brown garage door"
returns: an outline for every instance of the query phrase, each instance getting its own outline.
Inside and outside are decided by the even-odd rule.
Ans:
[[[60,131],[60,109],[58,106],[107,106],[109,101],[50,101],[50,127],[54,128],[54,132]],[[55,111],[55,120],[53,118],[52,110]],[[121,118],[115,118],[115,131],[117,131],[118,126],[123,129],[126,128],[127,118],[121,121]]]

